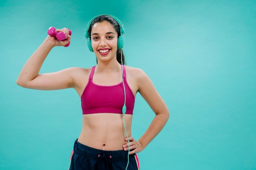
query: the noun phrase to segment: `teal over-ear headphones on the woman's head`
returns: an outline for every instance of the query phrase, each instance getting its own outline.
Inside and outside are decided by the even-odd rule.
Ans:
[[[103,15],[108,15],[108,14],[103,14]],[[88,45],[89,50],[92,51],[92,52],[93,52],[93,49],[92,49],[92,42],[91,42],[91,38],[90,38],[90,35],[89,35],[89,33],[88,33],[88,30],[89,30],[89,28],[90,28],[90,26],[91,26],[91,24],[92,24],[92,21],[93,21],[95,18],[99,17],[99,16],[101,16],[101,15],[97,15],[97,16],[95,16],[94,18],[92,18],[92,19],[88,22],[88,24],[87,24],[87,26],[86,26],[86,30],[85,30],[85,31],[86,31],[86,32],[85,32],[85,38],[86,38],[86,40],[87,40],[87,45]],[[110,16],[110,17],[112,17],[114,20],[116,20],[117,23],[118,23],[119,26],[120,26],[120,34],[121,34],[121,35],[120,35],[119,38],[118,38],[117,48],[118,48],[118,49],[123,49],[123,47],[124,47],[124,40],[125,40],[125,36],[124,36],[125,31],[124,31],[123,24],[122,24],[121,21],[120,21],[119,19],[117,19],[115,16],[113,16],[113,15],[108,15],[108,16]]]

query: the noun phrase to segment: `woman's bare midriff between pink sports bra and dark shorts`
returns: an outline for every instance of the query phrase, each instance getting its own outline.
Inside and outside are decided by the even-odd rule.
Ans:
[[[124,115],[128,136],[131,136],[132,115]],[[79,143],[99,150],[123,150],[126,132],[123,115],[117,113],[94,113],[83,115]]]

